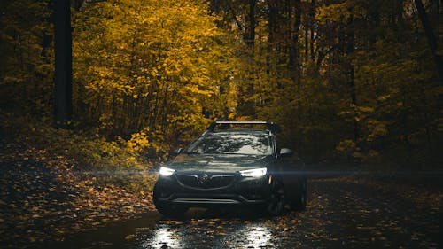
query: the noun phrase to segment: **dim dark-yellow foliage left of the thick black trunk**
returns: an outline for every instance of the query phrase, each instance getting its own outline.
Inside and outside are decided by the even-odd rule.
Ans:
[[[2,1],[0,12],[2,109],[22,116],[52,115],[53,36],[48,2]]]

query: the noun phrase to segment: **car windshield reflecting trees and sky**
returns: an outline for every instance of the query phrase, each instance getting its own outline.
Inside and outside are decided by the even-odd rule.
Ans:
[[[270,136],[260,133],[211,133],[190,144],[188,153],[270,155]]]

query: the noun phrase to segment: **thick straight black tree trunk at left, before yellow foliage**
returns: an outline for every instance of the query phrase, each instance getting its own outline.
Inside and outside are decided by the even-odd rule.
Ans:
[[[68,128],[73,115],[71,5],[69,0],[55,0],[55,122]]]

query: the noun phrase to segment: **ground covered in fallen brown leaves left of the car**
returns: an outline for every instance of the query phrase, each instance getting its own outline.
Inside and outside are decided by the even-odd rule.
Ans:
[[[62,241],[69,234],[153,210],[151,193],[101,183],[61,156],[0,137],[0,247]],[[130,177],[128,179],[131,180]]]

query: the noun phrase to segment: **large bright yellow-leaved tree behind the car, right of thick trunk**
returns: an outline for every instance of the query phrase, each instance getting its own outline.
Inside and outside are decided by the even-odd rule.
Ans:
[[[185,140],[232,112],[234,38],[216,20],[202,1],[86,2],[74,19],[82,124],[111,137],[144,130]]]

